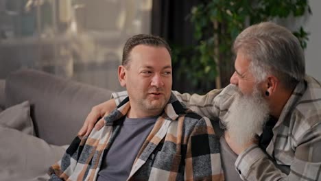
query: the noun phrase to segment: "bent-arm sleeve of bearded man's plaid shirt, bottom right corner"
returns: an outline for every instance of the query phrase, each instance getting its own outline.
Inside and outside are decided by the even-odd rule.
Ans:
[[[287,175],[257,146],[239,154],[235,168],[243,180],[320,180],[321,125],[311,128],[298,140]]]

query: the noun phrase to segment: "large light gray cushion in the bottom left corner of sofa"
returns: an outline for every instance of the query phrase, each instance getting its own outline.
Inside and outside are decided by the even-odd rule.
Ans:
[[[47,171],[66,147],[49,145],[36,136],[0,126],[0,180],[47,180]]]

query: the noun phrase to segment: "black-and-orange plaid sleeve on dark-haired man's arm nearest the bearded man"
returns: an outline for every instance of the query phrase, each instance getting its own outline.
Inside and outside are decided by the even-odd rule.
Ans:
[[[189,136],[185,180],[224,180],[219,139],[208,118],[200,119]]]

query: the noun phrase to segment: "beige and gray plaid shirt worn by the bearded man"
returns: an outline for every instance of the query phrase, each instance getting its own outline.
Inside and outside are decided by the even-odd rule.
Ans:
[[[195,112],[224,120],[237,91],[229,85],[203,96],[176,94]],[[239,154],[235,168],[243,180],[321,180],[320,82],[306,76],[296,86],[273,133],[266,150],[252,145]]]

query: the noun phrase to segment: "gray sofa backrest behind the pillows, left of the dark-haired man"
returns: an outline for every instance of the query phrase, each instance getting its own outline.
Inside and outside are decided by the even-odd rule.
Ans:
[[[8,108],[29,100],[36,136],[53,145],[71,143],[88,112],[110,99],[110,90],[34,70],[10,74],[5,84]]]

